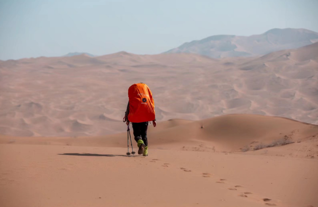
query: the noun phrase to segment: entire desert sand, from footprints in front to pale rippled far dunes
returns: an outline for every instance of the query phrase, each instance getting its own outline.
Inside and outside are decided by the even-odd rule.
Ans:
[[[317,68],[318,43],[0,61],[0,206],[318,207]],[[122,122],[141,81],[148,157]]]

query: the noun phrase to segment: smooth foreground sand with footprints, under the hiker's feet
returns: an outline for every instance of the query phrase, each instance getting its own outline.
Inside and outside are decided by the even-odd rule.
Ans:
[[[318,203],[317,160],[166,150],[144,158],[125,150],[0,144],[1,206]]]

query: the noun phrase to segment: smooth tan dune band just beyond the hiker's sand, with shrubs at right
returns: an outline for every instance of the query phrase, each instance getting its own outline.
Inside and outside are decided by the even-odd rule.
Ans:
[[[91,127],[87,123],[73,120],[67,130],[76,128],[77,131],[85,131]],[[132,131],[131,135],[133,136]],[[149,146],[153,149],[258,154],[259,151],[255,149],[266,148],[266,152],[262,151],[262,154],[278,155],[273,154],[266,146],[288,144],[288,149],[281,150],[280,156],[318,159],[318,146],[312,146],[306,153],[300,149],[301,146],[307,145],[306,143],[318,140],[318,126],[280,117],[233,114],[199,121],[168,120],[160,122],[157,128],[149,125],[148,136]],[[127,132],[97,137],[64,138],[3,135],[0,143],[124,147],[127,145]],[[308,147],[305,148],[308,150]],[[296,152],[291,152],[293,150]]]

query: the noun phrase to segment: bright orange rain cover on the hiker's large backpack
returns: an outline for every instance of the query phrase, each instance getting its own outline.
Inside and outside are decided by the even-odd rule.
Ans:
[[[149,87],[144,83],[137,83],[129,87],[128,120],[134,123],[155,120],[155,102]]]

